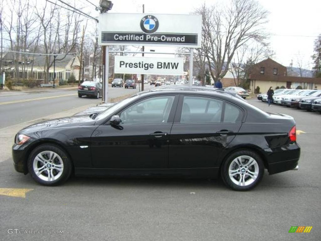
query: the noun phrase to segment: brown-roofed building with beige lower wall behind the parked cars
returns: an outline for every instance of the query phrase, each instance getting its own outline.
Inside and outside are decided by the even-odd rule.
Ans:
[[[254,93],[257,86],[260,92],[265,93],[270,86],[296,88],[301,85],[303,89],[321,89],[321,78],[288,76],[287,68],[271,58],[255,64],[250,70],[250,91]]]

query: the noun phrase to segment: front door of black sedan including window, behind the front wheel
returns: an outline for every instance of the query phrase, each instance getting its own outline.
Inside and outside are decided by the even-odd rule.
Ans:
[[[174,99],[175,96],[157,96],[140,100],[118,113],[119,126],[100,125],[91,137],[94,167],[167,168]]]

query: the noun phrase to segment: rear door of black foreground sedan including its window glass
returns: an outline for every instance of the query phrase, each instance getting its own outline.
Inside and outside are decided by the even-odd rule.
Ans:
[[[181,95],[169,137],[169,168],[216,167],[243,115],[241,108],[221,99]]]

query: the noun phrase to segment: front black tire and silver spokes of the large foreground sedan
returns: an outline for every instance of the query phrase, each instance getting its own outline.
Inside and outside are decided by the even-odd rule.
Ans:
[[[57,156],[52,161],[49,161],[50,158],[45,159],[45,156],[47,154],[43,155],[43,153],[46,153],[46,152],[56,153]],[[36,162],[35,158],[37,155],[40,155],[43,158],[42,161],[45,161],[46,163],[44,162],[44,164],[42,165],[41,162],[39,162],[39,161]],[[47,157],[48,157],[48,155],[47,155]],[[57,165],[57,166],[61,165],[60,162],[62,162],[62,164],[63,164],[63,169],[61,172],[57,171],[57,169],[54,168],[55,165]],[[42,170],[42,172],[39,175],[37,175],[34,170],[34,166],[41,168],[42,166],[45,166],[45,165],[47,166],[48,164],[51,167],[50,170],[52,170],[51,175],[56,174],[56,179],[54,179],[52,181],[44,180],[44,179],[47,179],[48,174],[49,174],[47,169]],[[45,168],[47,168],[47,167],[45,167]],[[40,183],[45,186],[56,186],[56,185],[64,183],[70,177],[70,175],[72,173],[72,168],[73,167],[72,167],[71,159],[69,158],[67,153],[65,153],[65,151],[62,150],[60,147],[57,147],[57,146],[51,145],[51,144],[44,144],[39,147],[36,147],[30,153],[29,158],[28,158],[28,171],[29,171],[30,175],[37,183]],[[46,175],[47,175],[47,177],[46,177]]]

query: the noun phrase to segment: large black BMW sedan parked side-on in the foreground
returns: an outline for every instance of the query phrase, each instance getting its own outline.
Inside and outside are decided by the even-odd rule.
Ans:
[[[158,88],[99,114],[20,130],[16,171],[52,186],[78,176],[215,178],[234,190],[295,169],[300,147],[291,116],[263,112],[223,91]]]

